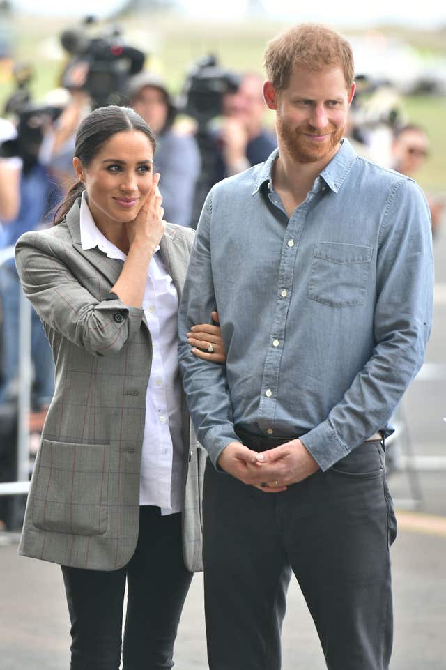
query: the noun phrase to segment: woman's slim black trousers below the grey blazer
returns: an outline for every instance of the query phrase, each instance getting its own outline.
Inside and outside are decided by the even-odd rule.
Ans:
[[[167,670],[192,580],[183,563],[181,515],[141,507],[128,565],[102,572],[62,566],[71,620],[71,670],[118,670],[125,581],[123,670]]]

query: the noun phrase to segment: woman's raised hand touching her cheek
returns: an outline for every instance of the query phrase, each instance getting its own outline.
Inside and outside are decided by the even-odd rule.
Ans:
[[[158,189],[160,173],[153,176],[152,188],[142,204],[134,220],[127,224],[127,234],[130,247],[143,245],[153,254],[160,239],[164,235],[166,222],[163,220],[164,209],[161,206],[162,195]]]

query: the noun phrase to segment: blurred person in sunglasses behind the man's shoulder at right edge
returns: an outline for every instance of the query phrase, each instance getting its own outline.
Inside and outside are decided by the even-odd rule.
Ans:
[[[426,130],[415,123],[403,125],[394,133],[392,158],[394,169],[408,177],[416,178],[431,151]],[[445,213],[445,200],[426,194],[431,210],[432,235],[436,236]]]

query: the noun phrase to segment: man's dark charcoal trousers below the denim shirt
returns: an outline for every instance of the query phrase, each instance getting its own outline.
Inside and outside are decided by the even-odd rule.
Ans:
[[[244,443],[257,451],[273,446]],[[279,670],[291,570],[328,669],[387,670],[396,521],[378,441],[277,494],[208,462],[203,523],[210,670]]]

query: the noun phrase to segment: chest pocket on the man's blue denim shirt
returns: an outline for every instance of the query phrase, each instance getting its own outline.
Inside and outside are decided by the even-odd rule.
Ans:
[[[372,253],[373,247],[343,242],[316,242],[308,297],[330,307],[362,305]]]

